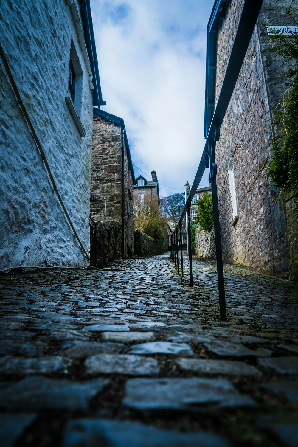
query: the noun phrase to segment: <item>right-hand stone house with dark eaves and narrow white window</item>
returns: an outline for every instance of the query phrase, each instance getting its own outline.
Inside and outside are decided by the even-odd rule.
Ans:
[[[281,60],[264,51],[269,38],[262,24],[285,24],[289,19],[284,7],[290,4],[291,0],[263,2],[222,123],[216,163],[223,260],[277,272],[287,271],[290,261],[294,278],[298,277],[297,267],[294,273],[297,210],[295,218],[293,203],[287,202],[264,171],[270,157],[272,111],[287,87]],[[242,7],[243,0],[216,0],[207,26],[205,138]]]

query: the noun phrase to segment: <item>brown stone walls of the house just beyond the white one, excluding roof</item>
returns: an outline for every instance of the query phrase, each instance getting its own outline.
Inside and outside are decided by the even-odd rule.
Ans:
[[[133,176],[127,148],[125,164],[125,256],[134,253]],[[94,114],[90,215],[95,222],[115,220],[122,227],[122,127]],[[105,198],[105,200],[104,200]],[[120,235],[121,237],[121,235]]]

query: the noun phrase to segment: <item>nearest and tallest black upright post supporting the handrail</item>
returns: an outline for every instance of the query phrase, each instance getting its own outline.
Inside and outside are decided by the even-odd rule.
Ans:
[[[216,184],[217,166],[215,163],[215,148],[216,148],[216,141],[218,140],[219,140],[219,128],[214,127],[214,134],[212,137],[212,141],[211,144],[209,143],[210,179],[211,179],[211,192],[212,192],[213,217],[214,217],[219,312],[220,312],[220,319],[223,321],[227,321],[225,283],[224,283],[223,265],[222,265],[222,240],[220,236],[219,210],[218,210],[218,197],[217,197],[217,184]]]

